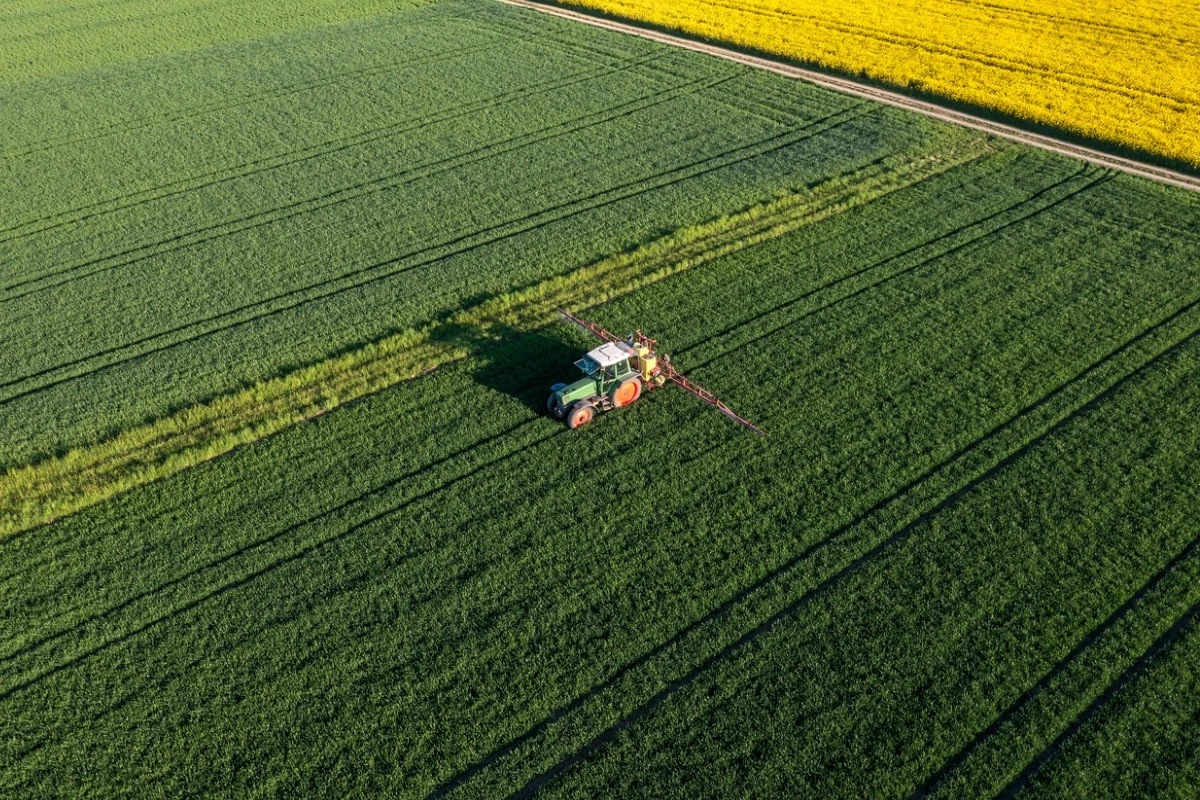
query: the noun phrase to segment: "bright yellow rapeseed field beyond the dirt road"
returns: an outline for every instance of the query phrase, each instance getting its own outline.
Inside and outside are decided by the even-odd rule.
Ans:
[[[1200,166],[1200,0],[572,0]]]

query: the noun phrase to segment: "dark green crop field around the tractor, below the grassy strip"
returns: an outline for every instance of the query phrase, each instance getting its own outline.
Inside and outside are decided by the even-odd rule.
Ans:
[[[547,327],[0,542],[0,786],[978,795],[1124,758],[1093,706],[1187,786],[1158,192],[1008,150],[592,309],[764,438],[672,391],[566,431]]]

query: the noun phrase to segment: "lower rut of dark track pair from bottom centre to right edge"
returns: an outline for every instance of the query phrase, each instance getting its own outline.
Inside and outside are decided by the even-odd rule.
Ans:
[[[1200,300],[1193,302],[1188,308],[1189,309],[1190,308],[1196,308],[1198,306],[1200,306]],[[1178,313],[1182,313],[1182,312],[1178,312]],[[1158,326],[1156,326],[1156,329],[1157,327]],[[1154,329],[1151,329],[1151,330],[1154,330]],[[1139,338],[1141,336],[1147,336],[1148,333],[1150,333],[1150,331],[1146,331],[1146,332],[1139,335]],[[894,548],[894,547],[904,543],[907,539],[910,539],[912,536],[912,534],[922,524],[924,524],[925,522],[929,522],[930,519],[932,519],[934,517],[936,517],[938,513],[946,511],[947,509],[950,509],[950,507],[958,505],[958,503],[960,503],[964,498],[966,498],[968,494],[971,494],[974,489],[977,489],[979,486],[986,483],[992,477],[995,477],[996,475],[998,475],[1002,471],[1004,471],[1008,467],[1010,467],[1016,461],[1019,461],[1022,456],[1025,456],[1027,452],[1030,452],[1038,444],[1040,444],[1043,441],[1046,441],[1055,433],[1066,429],[1072,422],[1074,422],[1075,420],[1085,416],[1086,414],[1088,414],[1090,411],[1092,411],[1093,409],[1096,409],[1100,403],[1103,403],[1104,401],[1106,401],[1110,397],[1112,397],[1129,380],[1136,378],[1139,374],[1144,373],[1146,369],[1148,369],[1153,365],[1158,363],[1160,360],[1168,357],[1169,355],[1171,355],[1174,353],[1177,353],[1180,349],[1182,349],[1183,347],[1186,347],[1188,343],[1195,341],[1195,338],[1198,337],[1198,335],[1200,335],[1200,329],[1192,330],[1192,332],[1188,333],[1183,339],[1176,342],[1175,344],[1170,345],[1166,350],[1164,350],[1164,351],[1159,353],[1158,355],[1153,356],[1150,361],[1142,363],[1141,366],[1136,367],[1132,372],[1128,372],[1123,377],[1118,378],[1116,380],[1116,383],[1111,384],[1108,389],[1105,389],[1102,392],[1099,392],[1098,395],[1093,396],[1091,399],[1088,399],[1087,402],[1085,402],[1082,405],[1076,407],[1074,410],[1072,410],[1070,413],[1068,413],[1066,416],[1063,416],[1062,419],[1060,419],[1057,422],[1052,423],[1049,428],[1044,429],[1042,433],[1039,433],[1039,434],[1034,435],[1032,439],[1028,439],[1027,441],[1025,441],[1025,444],[1020,445],[1015,451],[1012,451],[1010,453],[1008,453],[1007,456],[1004,456],[1003,458],[1001,458],[998,462],[996,462],[995,464],[992,464],[991,467],[989,467],[980,475],[971,479],[961,488],[955,489],[952,494],[949,494],[948,497],[946,497],[944,499],[942,499],[941,501],[938,501],[936,505],[934,505],[928,511],[924,511],[920,515],[918,515],[914,519],[912,519],[911,522],[908,522],[907,524],[905,524],[902,528],[900,528],[899,530],[896,530],[894,534],[887,536],[881,542],[878,542],[877,545],[875,545],[874,547],[871,547],[863,555],[859,555],[857,559],[854,559],[853,561],[851,561],[850,564],[847,564],[845,567],[842,567],[841,570],[834,572],[832,576],[829,576],[828,578],[826,578],[824,581],[822,581],[815,588],[812,588],[809,591],[806,591],[798,600],[796,600],[794,602],[785,606],[780,610],[775,612],[767,620],[764,620],[763,622],[761,622],[761,624],[756,625],[755,627],[750,628],[749,631],[746,631],[745,633],[743,633],[740,637],[738,637],[738,639],[736,639],[731,644],[727,644],[724,648],[721,648],[718,652],[715,652],[714,655],[712,655],[708,658],[706,658],[704,661],[702,661],[700,664],[697,664],[696,667],[694,667],[691,670],[689,670],[683,676],[680,676],[680,678],[671,681],[667,686],[665,686],[658,693],[655,693],[654,696],[652,696],[648,700],[646,700],[644,703],[642,703],[641,705],[638,705],[634,711],[624,715],[616,723],[613,723],[612,726],[605,728],[602,732],[600,732],[599,734],[596,734],[595,736],[593,736],[582,747],[580,747],[578,750],[576,750],[575,752],[572,752],[570,756],[566,756],[566,757],[562,758],[560,760],[558,760],[548,770],[545,770],[545,771],[535,775],[521,789],[518,789],[517,792],[512,793],[509,796],[512,798],[512,799],[520,799],[520,798],[529,798],[529,796],[536,794],[540,789],[545,788],[547,784],[550,784],[551,782],[553,782],[554,780],[557,780],[558,777],[560,777],[564,772],[566,772],[568,770],[570,770],[572,766],[575,766],[576,764],[578,764],[580,762],[582,762],[583,759],[588,758],[589,756],[592,756],[593,753],[595,753],[596,751],[599,751],[600,748],[602,748],[605,745],[607,745],[608,742],[611,742],[613,739],[616,739],[618,735],[620,735],[620,733],[623,733],[630,726],[632,726],[637,721],[644,718],[650,712],[653,712],[654,710],[656,710],[658,708],[660,708],[671,697],[673,697],[678,692],[680,692],[680,691],[690,687],[692,684],[696,682],[696,680],[698,678],[701,678],[702,675],[704,675],[713,667],[719,666],[720,663],[722,663],[724,661],[726,661],[727,658],[730,658],[731,656],[733,656],[738,651],[745,649],[748,645],[750,645],[754,642],[756,642],[757,639],[760,639],[762,636],[769,633],[778,624],[782,622],[786,619],[796,616],[809,603],[811,603],[815,600],[821,599],[822,596],[824,596],[826,594],[828,594],[829,591],[832,591],[833,589],[835,589],[846,578],[851,577],[852,575],[854,575],[856,572],[858,572],[860,569],[863,569],[868,564],[872,563],[875,559],[877,559],[884,552],[887,552],[887,551],[889,551],[889,549],[892,549],[892,548]],[[1138,339],[1134,339],[1134,341],[1138,341]],[[1091,369],[1092,369],[1092,367],[1088,368],[1088,371],[1091,371]],[[1087,372],[1087,371],[1085,371],[1085,372]],[[1057,395],[1058,392],[1061,392],[1064,389],[1064,386],[1060,386],[1058,389],[1054,390],[1054,392],[1051,392],[1050,395],[1048,395],[1046,398]],[[1030,407],[1030,408],[1036,408],[1036,407],[1039,407],[1039,405],[1044,404],[1046,402],[1046,398],[1043,398],[1042,401],[1038,401],[1038,403],[1034,404],[1034,407]],[[1021,414],[1024,415],[1024,414],[1026,414],[1026,411],[1022,411]],[[1015,419],[1016,417],[1014,417],[1014,420]],[[1008,422],[1004,423],[1004,426],[1008,426],[1008,425],[1009,425]],[[1004,427],[1004,426],[1002,426],[1002,427]],[[991,434],[988,434],[988,435],[990,437]],[[978,441],[974,443],[974,444],[978,444]],[[974,446],[974,444],[972,445],[972,447]],[[870,513],[870,512],[868,512],[868,513]],[[859,519],[863,519],[863,517],[859,517]],[[856,523],[851,523],[851,525],[854,525],[854,524]],[[846,530],[846,529],[842,529],[842,530]],[[1186,621],[1189,621],[1193,616],[1195,616],[1195,614],[1198,612],[1200,612],[1200,603],[1196,603],[1196,606],[1194,606],[1193,609],[1189,610],[1188,615],[1186,615],[1186,620],[1181,620],[1181,621],[1183,624],[1186,624]],[[1176,625],[1172,626],[1171,631],[1175,631],[1175,634],[1177,634],[1180,627],[1182,627],[1181,622],[1176,622]],[[1171,631],[1168,631],[1168,633],[1171,633]],[[1166,634],[1164,634],[1164,638],[1165,637],[1166,637]],[[1162,642],[1162,639],[1160,639],[1160,642]],[[1153,652],[1154,648],[1152,648],[1151,651]],[[1142,662],[1139,662],[1139,663],[1142,663]],[[1134,664],[1134,667],[1136,667],[1136,666],[1138,664]],[[1130,670],[1133,670],[1133,667],[1130,668]],[[1129,674],[1129,670],[1127,670],[1126,674]],[[1118,679],[1118,682],[1120,682],[1120,679]],[[1124,682],[1127,682],[1127,680]],[[1097,703],[1093,704],[1093,706],[1090,706],[1090,708],[1096,708],[1098,704],[1100,704],[1100,699],[1106,699],[1106,698],[1098,698]],[[1080,724],[1082,724],[1082,723],[1080,722]],[[1066,735],[1067,734],[1063,734],[1063,736],[1061,736],[1060,739],[1064,739]],[[1049,750],[1050,748],[1048,748],[1048,751]],[[1033,765],[1031,765],[1031,769],[1032,768],[1033,768]],[[1014,781],[1014,783],[1015,783],[1015,781]],[[1008,798],[1010,795],[1007,795],[1007,794],[1002,793],[998,796]]]

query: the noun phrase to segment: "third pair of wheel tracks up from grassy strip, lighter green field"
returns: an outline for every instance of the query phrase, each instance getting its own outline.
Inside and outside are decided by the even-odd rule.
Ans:
[[[457,106],[445,106],[439,108],[437,113],[428,114],[426,116],[406,119],[401,122],[392,122],[374,128],[367,128],[365,131],[359,131],[349,136],[335,137],[332,139],[326,139],[325,142],[308,145],[305,148],[299,148],[296,150],[289,150],[283,154],[277,154],[264,158],[257,158],[254,161],[244,162],[241,164],[235,164],[233,167],[224,167],[221,169],[202,173],[198,175],[190,175],[187,178],[181,178],[179,180],[169,181],[167,184],[160,184],[158,186],[148,187],[145,190],[131,192],[128,194],[122,194],[120,197],[100,200],[97,203],[91,203],[84,206],[78,206],[76,209],[70,209],[67,211],[61,211],[54,215],[41,217],[38,219],[31,219],[19,225],[14,225],[12,228],[0,229],[0,234],[6,234],[6,233],[11,234],[12,231],[18,230],[20,228],[28,228],[30,225],[36,225],[38,223],[47,223],[47,224],[32,230],[22,230],[20,233],[8,235],[7,237],[0,237],[0,243],[17,241],[19,239],[47,233],[66,225],[73,225],[80,222],[85,222],[88,219],[103,217],[106,215],[115,213],[118,211],[126,211],[128,209],[134,209],[140,205],[145,205],[148,203],[154,203],[157,200],[163,200],[173,197],[180,197],[199,190],[220,186],[221,184],[226,184],[229,181],[252,178],[254,175],[269,173],[275,169],[293,167],[295,164],[300,164],[324,156],[344,152],[353,148],[359,148],[366,144],[372,144],[374,142],[394,138],[404,133],[412,133],[414,131],[420,131],[443,122],[458,120],[482,110],[498,108],[512,101],[520,101],[528,97],[536,97],[539,95],[550,91],[566,89],[569,86],[587,83],[588,80],[595,80],[598,78],[605,78],[612,74],[619,74],[620,72],[625,72],[626,70],[631,70],[638,66],[644,66],[658,58],[661,58],[661,54],[654,54],[652,56],[643,58],[641,60],[629,61],[620,67],[601,67],[592,70],[589,72],[575,73],[568,76],[566,78],[558,78],[553,80],[545,80],[530,84],[528,86],[522,86],[521,89],[514,89],[478,101],[460,103]],[[68,270],[74,267],[68,267]],[[12,289],[34,284],[44,278],[61,273],[64,272],[52,271],[30,276],[22,281],[0,288],[0,291],[10,291]]]

